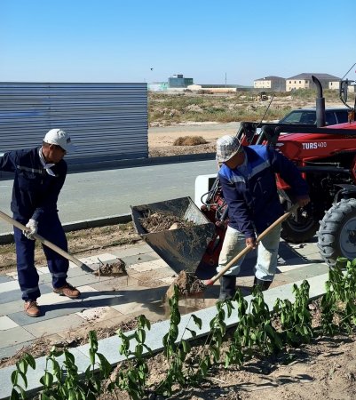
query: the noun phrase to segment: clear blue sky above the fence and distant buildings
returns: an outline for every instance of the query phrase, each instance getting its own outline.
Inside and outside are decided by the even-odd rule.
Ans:
[[[355,12],[354,0],[0,0],[0,82],[343,77]]]

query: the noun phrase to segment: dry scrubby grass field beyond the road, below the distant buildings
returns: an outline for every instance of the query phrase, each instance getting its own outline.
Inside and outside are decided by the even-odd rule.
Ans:
[[[315,91],[267,92],[262,101],[260,92],[235,92],[225,94],[148,93],[148,118],[150,126],[167,126],[193,122],[240,122],[281,119],[292,108],[315,105]],[[272,104],[265,115],[269,100]],[[324,91],[328,101],[338,100],[337,91]],[[341,103],[340,103],[341,106]]]

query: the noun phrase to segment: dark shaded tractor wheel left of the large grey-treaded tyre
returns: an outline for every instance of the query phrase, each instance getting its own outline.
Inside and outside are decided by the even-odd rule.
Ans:
[[[303,243],[315,235],[319,227],[319,220],[315,220],[312,212],[304,216],[300,209],[295,216],[289,217],[281,224],[281,237],[290,243]]]

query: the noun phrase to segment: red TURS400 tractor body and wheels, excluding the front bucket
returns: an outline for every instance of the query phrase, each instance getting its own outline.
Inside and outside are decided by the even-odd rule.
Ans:
[[[325,100],[319,80],[317,86],[317,125],[241,123],[239,139],[244,145],[268,144],[287,156],[303,173],[310,188],[311,203],[299,209],[282,224],[281,237],[302,243],[318,236],[321,256],[330,266],[337,257],[356,258],[356,101],[347,104],[347,88],[353,82],[340,83],[340,99],[349,108],[349,122],[325,126]],[[353,83],[354,84],[354,83]],[[355,87],[355,86],[353,86]],[[277,176],[281,203],[289,209],[294,203],[289,186]],[[202,205],[212,220],[215,214],[217,243],[210,243],[202,261],[217,264],[227,215],[218,180]]]

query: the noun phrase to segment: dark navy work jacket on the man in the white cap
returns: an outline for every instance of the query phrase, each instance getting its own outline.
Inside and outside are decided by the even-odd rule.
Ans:
[[[15,219],[40,221],[46,213],[58,212],[57,200],[67,176],[67,163],[60,160],[45,171],[39,148],[14,150],[0,157],[0,170],[15,172],[11,210]]]

